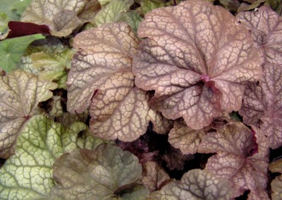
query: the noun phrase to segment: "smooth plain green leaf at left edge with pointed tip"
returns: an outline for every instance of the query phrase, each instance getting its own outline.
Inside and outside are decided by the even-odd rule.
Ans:
[[[0,60],[1,68],[6,72],[16,69],[20,62],[20,57],[23,56],[27,46],[36,39],[44,39],[43,35],[27,35],[23,37],[16,37],[13,39],[5,39],[0,42]]]

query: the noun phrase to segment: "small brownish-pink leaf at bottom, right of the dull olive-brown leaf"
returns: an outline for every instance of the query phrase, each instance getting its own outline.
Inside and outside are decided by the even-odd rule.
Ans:
[[[166,182],[171,180],[166,171],[157,163],[149,161],[142,165],[143,173],[141,182],[150,192],[161,189]]]

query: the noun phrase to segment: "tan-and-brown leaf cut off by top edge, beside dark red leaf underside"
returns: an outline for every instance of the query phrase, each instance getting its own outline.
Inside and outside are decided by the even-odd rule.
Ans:
[[[25,9],[21,21],[48,25],[51,35],[64,37],[92,20],[100,8],[97,0],[34,0]]]

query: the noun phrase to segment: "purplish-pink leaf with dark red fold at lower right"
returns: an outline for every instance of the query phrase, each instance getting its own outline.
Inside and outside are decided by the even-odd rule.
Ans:
[[[243,123],[231,122],[202,137],[200,153],[216,153],[206,169],[233,183],[234,196],[250,189],[249,196],[267,196],[269,149],[262,132],[250,130]]]

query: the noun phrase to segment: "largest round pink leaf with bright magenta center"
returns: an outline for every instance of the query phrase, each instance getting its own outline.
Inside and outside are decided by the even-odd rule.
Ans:
[[[238,111],[245,83],[262,75],[249,32],[226,9],[190,0],[145,15],[135,85],[155,90],[150,105],[193,129],[222,111]]]

